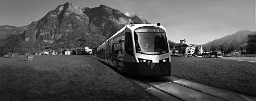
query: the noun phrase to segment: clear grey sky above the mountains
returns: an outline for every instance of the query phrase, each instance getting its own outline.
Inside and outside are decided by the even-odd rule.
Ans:
[[[205,44],[240,30],[255,31],[255,0],[0,0],[0,26],[26,26],[65,2],[142,14],[164,26],[175,43]]]

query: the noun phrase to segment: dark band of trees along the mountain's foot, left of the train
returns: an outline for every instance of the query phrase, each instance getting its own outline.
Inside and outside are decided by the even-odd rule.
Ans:
[[[38,40],[34,42],[25,42],[22,39],[22,37],[18,34],[7,34],[0,39],[0,57],[3,57],[5,54],[9,54],[9,53],[11,53],[11,57],[13,57],[15,53],[19,53],[19,54],[29,53],[30,55],[34,55],[36,53],[40,53],[42,50],[47,50],[47,49],[58,50],[61,48],[79,47],[80,45],[82,45],[82,47],[86,47],[89,45],[90,47],[90,45],[94,46],[94,45],[97,45],[97,43],[95,44],[90,41],[86,41],[86,43],[84,43],[83,40],[76,41],[75,43],[73,43],[72,41],[69,41],[64,44],[49,44],[49,43],[40,42]],[[75,50],[73,50],[73,52],[75,52]]]

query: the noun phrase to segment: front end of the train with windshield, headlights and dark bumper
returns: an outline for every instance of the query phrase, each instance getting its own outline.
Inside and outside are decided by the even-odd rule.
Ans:
[[[141,77],[170,76],[171,57],[166,30],[160,25],[144,26],[135,29],[133,35],[135,52],[130,73]]]

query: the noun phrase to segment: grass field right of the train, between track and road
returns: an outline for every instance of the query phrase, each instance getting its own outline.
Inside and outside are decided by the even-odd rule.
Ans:
[[[199,57],[171,60],[175,77],[256,97],[256,63]]]

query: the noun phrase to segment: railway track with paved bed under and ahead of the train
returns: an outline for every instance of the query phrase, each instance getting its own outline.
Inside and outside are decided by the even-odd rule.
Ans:
[[[210,87],[201,89],[199,86],[187,86],[186,83],[175,82],[169,77],[134,77],[123,73],[122,68],[112,68],[116,73],[122,75],[129,81],[141,86],[150,94],[158,97],[160,100],[246,100],[252,101],[254,98],[247,98],[242,94],[236,94],[229,91],[213,90]],[[184,84],[184,85],[183,85]],[[179,93],[176,93],[176,92]]]

